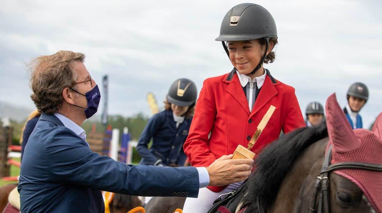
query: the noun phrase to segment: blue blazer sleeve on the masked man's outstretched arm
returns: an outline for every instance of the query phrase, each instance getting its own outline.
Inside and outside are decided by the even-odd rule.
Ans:
[[[197,197],[196,168],[126,165],[92,152],[84,140],[63,128],[50,140],[54,143],[45,145],[53,181],[129,195],[174,196],[175,193]]]

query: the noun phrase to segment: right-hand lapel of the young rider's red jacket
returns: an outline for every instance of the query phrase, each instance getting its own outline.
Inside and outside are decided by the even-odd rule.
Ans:
[[[270,101],[278,92],[275,85],[279,85],[270,72],[266,69],[267,75],[265,76],[264,84],[261,86],[259,96],[256,98],[255,105],[253,106],[251,116],[254,115],[261,107]]]

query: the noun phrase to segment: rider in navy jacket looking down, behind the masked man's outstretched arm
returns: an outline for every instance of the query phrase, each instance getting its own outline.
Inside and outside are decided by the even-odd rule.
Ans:
[[[151,117],[139,138],[137,151],[142,157],[139,164],[172,167],[185,164],[183,144],[191,125],[196,95],[196,86],[191,80],[180,78],[173,82],[164,101],[165,110]]]

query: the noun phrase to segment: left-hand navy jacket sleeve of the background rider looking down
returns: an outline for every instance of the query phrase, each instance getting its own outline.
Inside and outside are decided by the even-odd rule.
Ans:
[[[153,138],[157,131],[159,131],[160,127],[162,127],[162,119],[160,114],[155,114],[149,119],[149,122],[147,122],[136,147],[139,155],[151,165],[154,165],[158,159],[149,151],[148,144],[150,143],[151,138]]]

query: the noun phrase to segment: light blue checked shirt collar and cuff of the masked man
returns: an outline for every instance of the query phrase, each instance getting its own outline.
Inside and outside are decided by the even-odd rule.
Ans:
[[[55,113],[54,114],[60,121],[63,123],[63,125],[76,133],[80,138],[84,139],[86,141],[86,133],[83,128],[78,126],[76,123],[74,123],[72,120],[68,119],[67,117],[63,116],[62,114]],[[86,142],[87,143],[87,142]],[[89,146],[89,143],[87,143],[87,146]],[[199,188],[207,187],[208,184],[210,184],[210,176],[208,175],[208,171],[206,167],[196,167],[197,172],[199,173]]]

